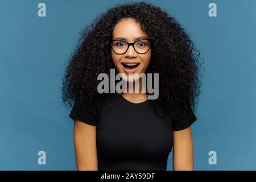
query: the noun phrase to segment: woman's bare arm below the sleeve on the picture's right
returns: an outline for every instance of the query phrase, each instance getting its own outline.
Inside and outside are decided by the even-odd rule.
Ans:
[[[174,171],[193,170],[193,141],[191,126],[174,132],[172,167]]]

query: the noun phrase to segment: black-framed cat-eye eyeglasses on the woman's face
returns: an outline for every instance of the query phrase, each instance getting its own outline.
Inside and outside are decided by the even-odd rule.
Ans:
[[[112,40],[111,47],[115,53],[122,55],[126,53],[130,46],[133,46],[137,53],[146,53],[151,47],[151,39],[141,39],[134,43],[127,43],[124,40]]]

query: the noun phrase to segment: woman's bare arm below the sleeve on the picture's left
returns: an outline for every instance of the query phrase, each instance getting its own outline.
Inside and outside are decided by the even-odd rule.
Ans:
[[[74,146],[78,171],[98,171],[96,126],[75,119]]]

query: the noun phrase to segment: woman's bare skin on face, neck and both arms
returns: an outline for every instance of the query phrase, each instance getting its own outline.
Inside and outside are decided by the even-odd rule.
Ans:
[[[129,43],[135,42],[135,39],[141,36],[147,37],[148,35],[146,32],[142,31],[140,24],[131,18],[122,19],[115,25],[113,30],[113,39],[125,38]],[[118,73],[125,73],[127,80],[129,80],[121,62],[139,62],[140,65],[135,72],[144,73],[150,63],[151,53],[150,49],[147,53],[139,54],[130,46],[127,52],[123,55],[118,55],[112,50],[112,59]],[[124,93],[122,96],[127,101],[134,103],[147,100],[146,93]],[[193,141],[191,127],[180,131],[174,131],[173,134],[173,169],[193,170]],[[73,137],[77,170],[97,171],[96,126],[75,120]]]

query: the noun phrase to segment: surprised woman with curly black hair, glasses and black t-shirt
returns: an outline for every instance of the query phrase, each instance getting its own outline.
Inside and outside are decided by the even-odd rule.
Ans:
[[[193,170],[191,125],[199,61],[174,18],[150,3],[118,5],[86,27],[69,61],[63,100],[72,106],[78,170]],[[129,44],[130,43],[130,44]],[[199,56],[199,55],[198,55]],[[97,91],[100,73],[158,73],[159,97]],[[141,84],[140,84],[141,86]]]

